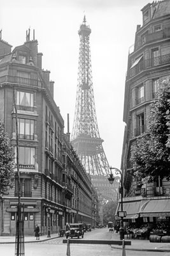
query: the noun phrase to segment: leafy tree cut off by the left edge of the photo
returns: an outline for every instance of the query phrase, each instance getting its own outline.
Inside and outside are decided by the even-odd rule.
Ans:
[[[6,195],[13,183],[14,161],[8,134],[4,132],[4,125],[0,123],[0,195]]]

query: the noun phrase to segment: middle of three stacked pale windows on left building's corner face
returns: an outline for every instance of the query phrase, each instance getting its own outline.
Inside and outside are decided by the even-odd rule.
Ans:
[[[34,120],[18,118],[18,136],[20,139],[34,140]]]

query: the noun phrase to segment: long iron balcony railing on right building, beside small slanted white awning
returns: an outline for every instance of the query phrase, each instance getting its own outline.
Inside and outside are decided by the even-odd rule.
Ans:
[[[148,60],[141,60],[137,65],[129,69],[127,72],[127,77],[131,78],[139,74],[139,72],[147,70],[147,68],[157,67],[168,63],[170,64],[170,53],[155,58],[150,58]]]

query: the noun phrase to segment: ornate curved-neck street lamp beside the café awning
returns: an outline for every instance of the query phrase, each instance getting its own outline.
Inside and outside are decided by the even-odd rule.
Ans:
[[[110,171],[111,170],[115,170],[116,174],[120,174],[121,180],[120,180],[120,191],[121,191],[121,220],[120,220],[120,229],[119,229],[119,234],[120,234],[120,240],[124,239],[124,211],[123,211],[123,191],[124,191],[124,187],[123,187],[123,175],[122,172],[120,170],[118,170],[115,167],[111,167],[110,166]],[[115,177],[113,176],[113,173],[110,173],[110,177],[108,178],[110,184],[113,184],[113,181],[115,180]]]

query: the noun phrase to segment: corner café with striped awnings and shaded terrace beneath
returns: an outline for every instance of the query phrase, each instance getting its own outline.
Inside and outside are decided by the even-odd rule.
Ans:
[[[127,198],[128,199],[128,198]],[[169,236],[170,235],[170,198],[125,198],[123,210],[126,212],[124,217],[125,234],[132,238],[149,239],[150,234]],[[121,209],[121,202],[118,202],[115,214],[118,231],[120,218],[118,211]]]

